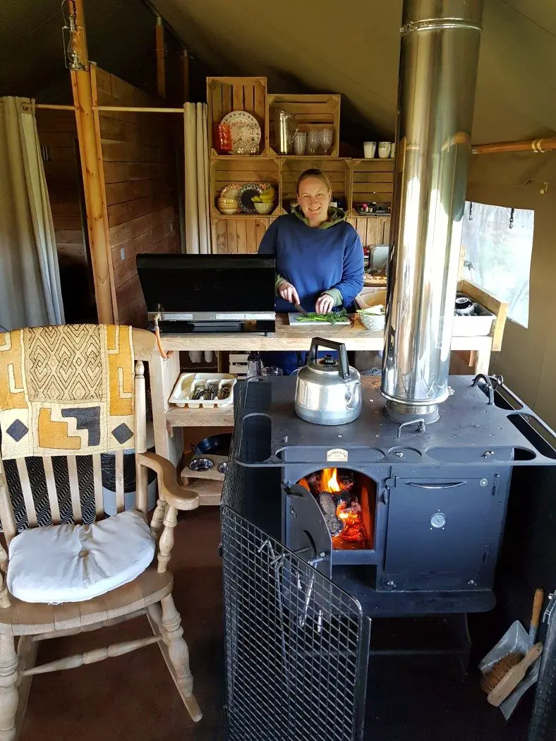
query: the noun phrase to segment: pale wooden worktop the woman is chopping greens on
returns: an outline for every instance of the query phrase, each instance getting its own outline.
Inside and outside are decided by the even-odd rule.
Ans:
[[[313,337],[343,342],[346,350],[383,350],[382,332],[369,332],[356,316],[352,325],[298,325],[288,323],[287,314],[277,314],[276,332],[265,337],[262,334],[248,332],[228,333],[189,333],[164,335],[162,345],[165,350],[308,350]],[[452,350],[489,350],[492,338],[485,337],[452,337]]]

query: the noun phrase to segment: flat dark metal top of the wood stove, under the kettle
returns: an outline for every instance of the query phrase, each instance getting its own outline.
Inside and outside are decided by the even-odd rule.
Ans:
[[[325,453],[334,449],[339,449],[336,460],[341,460],[341,451],[348,451],[349,462],[354,463],[555,465],[552,430],[505,387],[502,391],[509,393],[497,393],[495,404],[489,405],[486,394],[472,381],[473,376],[451,376],[454,394],[440,405],[440,419],[418,431],[417,425],[400,430],[399,423],[385,416],[380,379],[364,378],[360,417],[337,426],[299,419],[294,411],[294,377],[250,379],[236,397],[236,424],[246,415],[270,419],[271,454],[265,465],[322,462],[323,455],[331,460]],[[237,460],[243,465],[262,463],[242,452]]]

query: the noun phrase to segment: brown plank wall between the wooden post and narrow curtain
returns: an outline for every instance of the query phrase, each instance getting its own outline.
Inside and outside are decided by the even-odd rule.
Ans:
[[[142,90],[96,69],[99,105],[161,107]],[[145,326],[145,301],[137,276],[139,253],[179,252],[176,184],[177,113],[99,114],[116,316],[119,324]]]

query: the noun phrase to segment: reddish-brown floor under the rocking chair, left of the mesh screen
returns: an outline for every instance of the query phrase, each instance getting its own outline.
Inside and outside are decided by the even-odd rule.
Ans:
[[[193,723],[156,645],[77,669],[39,675],[31,685],[21,741],[218,741],[222,722],[222,564],[219,508],[180,515],[172,551],[173,592],[191,651],[204,717]],[[146,617],[58,638],[39,662],[110,642],[148,636]]]

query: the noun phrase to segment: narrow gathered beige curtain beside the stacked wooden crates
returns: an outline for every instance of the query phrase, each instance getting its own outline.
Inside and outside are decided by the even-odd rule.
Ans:
[[[211,252],[208,208],[208,136],[205,103],[185,104],[185,251]]]

